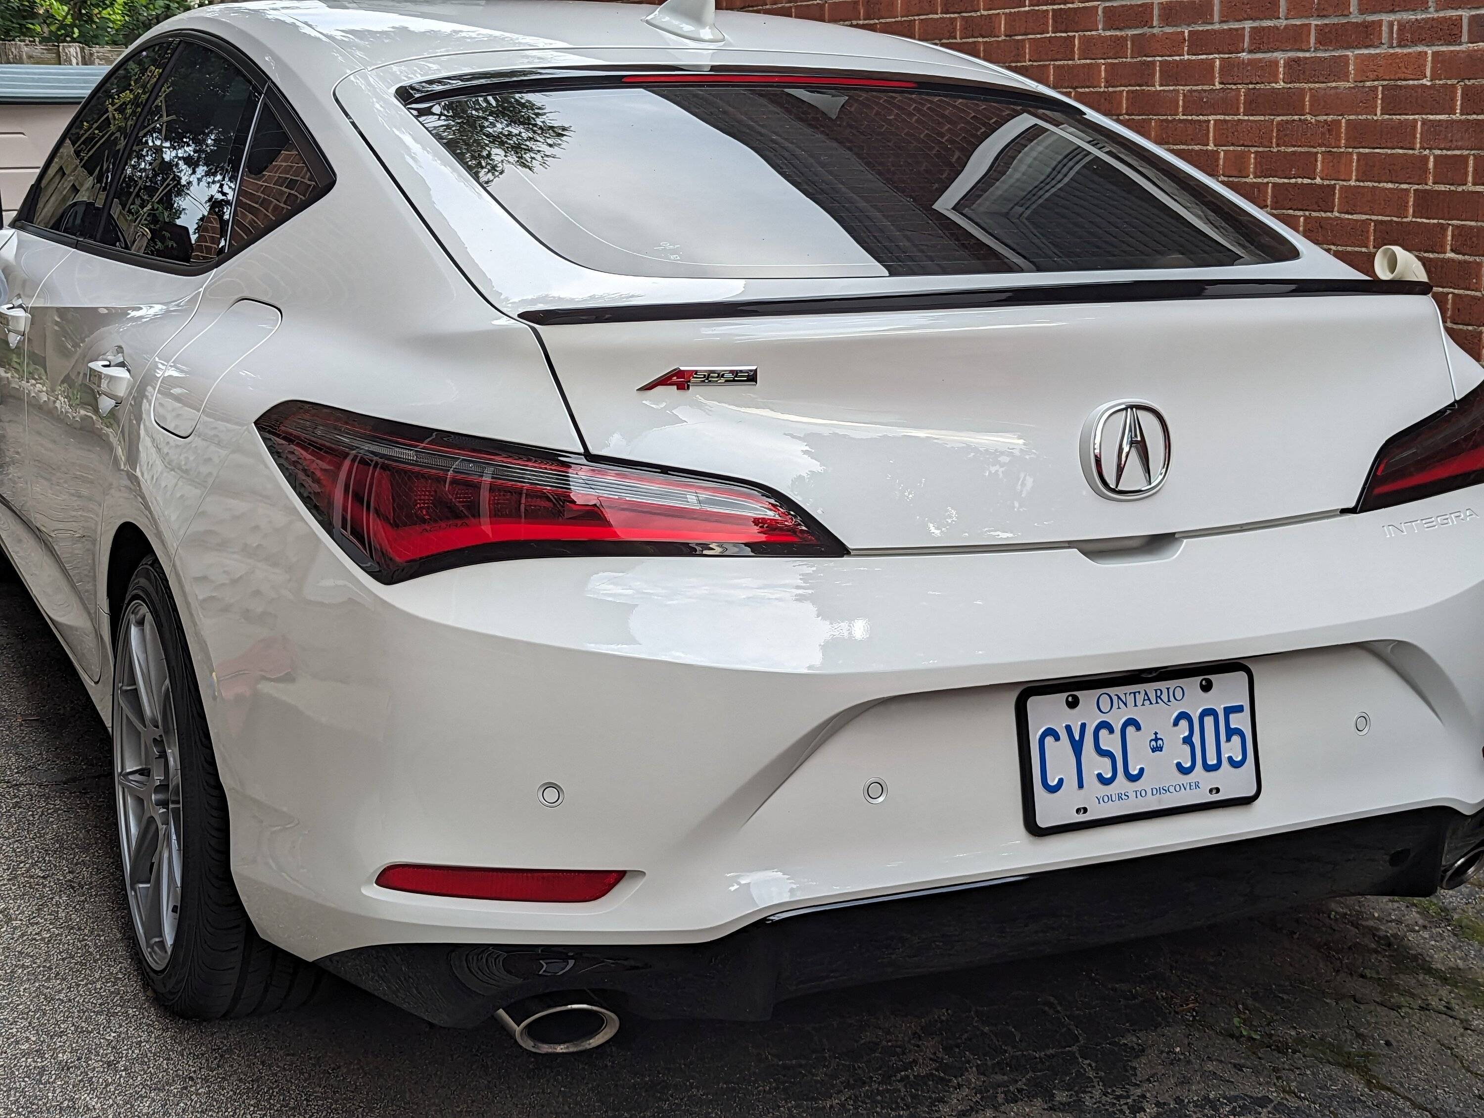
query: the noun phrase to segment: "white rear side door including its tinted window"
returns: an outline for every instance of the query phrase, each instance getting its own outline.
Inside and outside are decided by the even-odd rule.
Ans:
[[[98,526],[144,411],[139,385],[227,251],[260,97],[223,53],[181,42],[98,224],[82,230],[30,307],[40,370],[27,411],[31,518],[95,621]]]

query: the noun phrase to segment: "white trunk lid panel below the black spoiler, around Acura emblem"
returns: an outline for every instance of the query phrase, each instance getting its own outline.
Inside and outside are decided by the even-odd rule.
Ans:
[[[1453,401],[1425,295],[1345,294],[539,327],[595,454],[761,483],[853,551],[1192,533],[1345,509]],[[757,383],[638,390],[677,367]],[[1100,496],[1089,419],[1169,431]],[[1158,472],[1162,432],[1141,413]],[[1122,417],[1106,426],[1116,444]],[[1126,468],[1141,483],[1137,448]]]

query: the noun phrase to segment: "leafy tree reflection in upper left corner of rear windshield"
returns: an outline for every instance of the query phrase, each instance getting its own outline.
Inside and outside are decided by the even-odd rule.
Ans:
[[[549,108],[519,94],[439,101],[417,116],[482,186],[510,166],[542,169],[571,132],[552,123]]]

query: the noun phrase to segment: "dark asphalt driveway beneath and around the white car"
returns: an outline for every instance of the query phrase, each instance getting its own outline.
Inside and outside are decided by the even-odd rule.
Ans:
[[[0,1115],[1484,1114],[1484,892],[1345,901],[540,1059],[334,989],[190,1024],[128,952],[107,739],[0,576]]]

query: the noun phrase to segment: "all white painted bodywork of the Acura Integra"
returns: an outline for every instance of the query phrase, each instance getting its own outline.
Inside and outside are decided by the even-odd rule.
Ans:
[[[628,4],[364,7],[378,10],[227,4],[157,31],[246,52],[324,150],[334,189],[280,229],[212,272],[139,284],[24,230],[0,243],[6,291],[36,303],[31,336],[0,344],[0,542],[105,719],[120,526],[159,555],[232,809],[233,873],[267,940],[310,959],[702,943],[822,903],[1484,808],[1484,487],[1343,511],[1391,435],[1484,380],[1425,297],[533,327],[518,316],[984,278],[585,269],[433,143],[401,85],[721,55],[1028,83],[792,19],[721,13],[727,43],[697,49]],[[1160,278],[1356,278],[1294,243],[1291,261]],[[49,339],[43,386],[28,355],[64,312],[76,333]],[[45,401],[114,344],[134,386],[88,413],[80,448],[82,428]],[[635,392],[680,364],[760,376]],[[1085,420],[1156,396],[1168,484],[1104,500],[1079,465]],[[855,554],[540,558],[381,585],[252,426],[294,399],[760,483]],[[1255,676],[1255,802],[1027,833],[1024,684],[1235,659]],[[890,790],[880,803],[862,796],[871,779]],[[559,808],[537,797],[548,781]],[[629,876],[592,903],[494,903],[378,888],[392,863]]]

